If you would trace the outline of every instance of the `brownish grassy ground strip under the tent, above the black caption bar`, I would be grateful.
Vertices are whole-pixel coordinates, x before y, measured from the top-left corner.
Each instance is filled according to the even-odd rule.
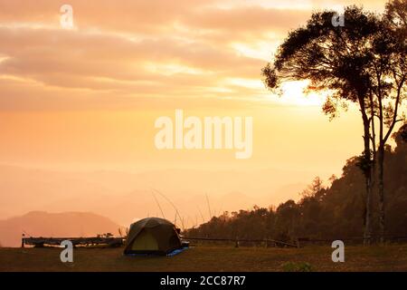
[[[407,271],[407,245],[345,247],[333,263],[330,247],[191,247],[177,256],[123,256],[121,248],[77,248],[62,264],[59,248],[0,248],[0,271]],[[308,264],[305,264],[308,263]],[[289,265],[289,266],[288,266]]]

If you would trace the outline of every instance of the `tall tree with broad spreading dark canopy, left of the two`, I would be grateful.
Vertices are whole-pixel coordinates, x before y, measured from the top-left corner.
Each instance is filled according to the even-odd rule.
[[[369,64],[380,19],[361,8],[348,6],[345,26],[334,27],[332,19],[336,15],[335,11],[312,14],[305,27],[289,33],[279,46],[273,65],[268,63],[262,73],[270,90],[279,88],[284,81],[308,80],[308,90],[330,92],[323,111],[331,118],[347,102],[358,104],[364,126],[364,152],[359,161],[365,179],[364,237],[369,242],[373,190]]]

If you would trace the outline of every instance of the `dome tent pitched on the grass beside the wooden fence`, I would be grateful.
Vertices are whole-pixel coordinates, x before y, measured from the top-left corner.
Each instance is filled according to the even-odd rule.
[[[124,254],[167,255],[181,247],[173,223],[164,218],[143,218],[130,226]]]

